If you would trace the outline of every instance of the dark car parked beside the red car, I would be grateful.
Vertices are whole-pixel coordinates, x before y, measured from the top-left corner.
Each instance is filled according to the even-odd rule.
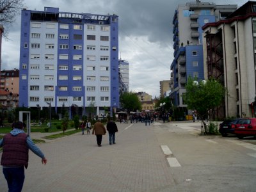
[[[227,120],[224,120],[219,125],[219,132],[220,134],[225,137],[228,134],[235,134],[235,127],[240,118],[230,118]]]

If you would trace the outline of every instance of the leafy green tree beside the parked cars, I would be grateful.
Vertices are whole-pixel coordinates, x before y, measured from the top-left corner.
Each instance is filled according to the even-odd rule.
[[[209,111],[214,111],[218,108],[225,97],[225,88],[218,83],[215,79],[203,80],[200,82],[195,81],[196,79],[188,78],[186,84],[186,104],[188,109],[196,110],[196,113],[204,124],[204,131],[201,130],[202,134],[207,134],[207,127],[204,122],[204,118],[209,115],[210,120],[212,118]]]

